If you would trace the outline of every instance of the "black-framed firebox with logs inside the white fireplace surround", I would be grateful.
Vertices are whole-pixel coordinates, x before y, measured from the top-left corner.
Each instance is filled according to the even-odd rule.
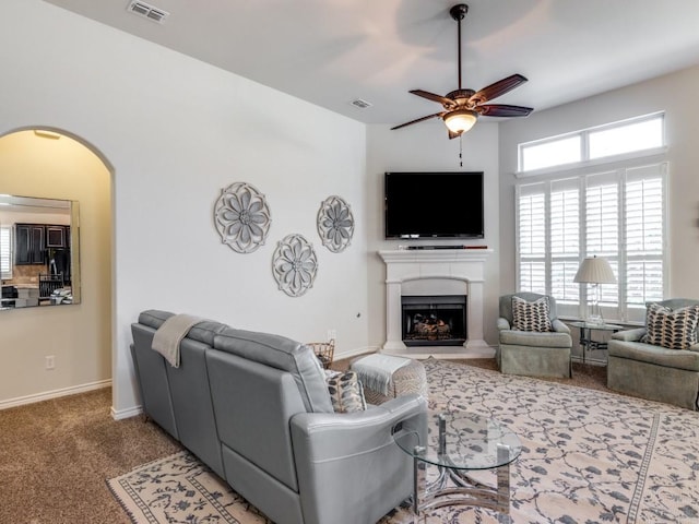
[[[466,342],[466,297],[402,296],[403,343],[406,346],[461,346]]]

